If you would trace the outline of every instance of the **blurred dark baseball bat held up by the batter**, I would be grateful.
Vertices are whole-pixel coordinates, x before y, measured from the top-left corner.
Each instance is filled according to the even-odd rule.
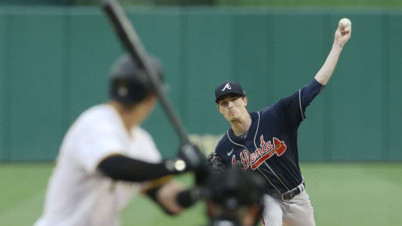
[[[127,49],[133,59],[137,61],[138,66],[149,76],[167,117],[175,131],[179,134],[181,144],[190,143],[182,121],[174,111],[172,104],[168,101],[166,96],[163,95],[161,80],[159,79],[156,69],[149,64],[145,48],[120,4],[116,0],[103,0],[102,7],[120,38],[121,44]]]

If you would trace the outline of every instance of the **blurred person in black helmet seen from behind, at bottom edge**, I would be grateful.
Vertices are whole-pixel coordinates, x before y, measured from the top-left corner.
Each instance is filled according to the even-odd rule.
[[[264,183],[253,172],[228,170],[213,175],[207,192],[210,225],[257,225],[263,210]]]

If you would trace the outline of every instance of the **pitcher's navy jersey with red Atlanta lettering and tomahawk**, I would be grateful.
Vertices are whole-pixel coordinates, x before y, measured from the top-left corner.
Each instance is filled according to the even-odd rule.
[[[292,96],[251,112],[246,137],[237,137],[230,128],[215,149],[223,164],[259,171],[269,182],[267,193],[283,193],[299,185],[303,178],[298,165],[297,129],[305,119],[306,107],[323,87],[313,79]]]

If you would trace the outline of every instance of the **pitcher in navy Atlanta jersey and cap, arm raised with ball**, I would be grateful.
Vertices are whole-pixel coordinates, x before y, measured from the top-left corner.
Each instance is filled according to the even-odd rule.
[[[298,163],[297,129],[306,118],[306,107],[330,79],[350,34],[350,21],[342,19],[328,58],[313,80],[260,111],[247,111],[247,96],[237,82],[223,82],[215,90],[217,108],[231,126],[209,160],[218,170],[235,167],[254,171],[266,179],[262,213],[266,226],[315,225]]]

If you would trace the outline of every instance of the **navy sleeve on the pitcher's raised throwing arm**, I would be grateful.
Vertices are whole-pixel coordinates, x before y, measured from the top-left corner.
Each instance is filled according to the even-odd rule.
[[[324,86],[315,78],[305,87],[296,91],[293,95],[285,97],[278,102],[278,107],[282,108],[284,121],[292,128],[297,128],[305,116],[307,106],[313,99],[321,93]]]

